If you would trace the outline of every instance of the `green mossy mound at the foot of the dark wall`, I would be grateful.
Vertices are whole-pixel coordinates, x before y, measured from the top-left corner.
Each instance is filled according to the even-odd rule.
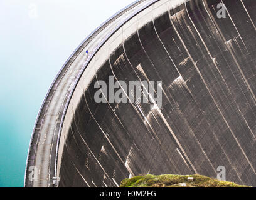
[[[188,177],[193,177],[194,180],[188,181]],[[135,176],[131,179],[124,179],[120,187],[183,187],[180,186],[181,183],[185,183],[185,187],[248,187],[240,186],[233,182],[218,181],[218,179],[198,174],[186,176],[173,174]]]

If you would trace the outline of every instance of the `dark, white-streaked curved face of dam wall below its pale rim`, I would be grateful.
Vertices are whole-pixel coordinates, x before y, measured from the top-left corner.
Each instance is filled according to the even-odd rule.
[[[256,186],[255,9],[255,0],[188,1],[115,48],[73,111],[60,187],[117,187],[147,173],[216,178],[219,166],[227,181]],[[96,103],[95,83],[109,86],[109,76],[162,81],[161,108]]]

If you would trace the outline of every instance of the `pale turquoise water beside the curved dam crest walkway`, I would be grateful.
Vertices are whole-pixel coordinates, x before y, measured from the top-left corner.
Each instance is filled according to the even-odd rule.
[[[131,2],[0,1],[0,187],[23,187],[35,119],[62,64],[90,32]]]

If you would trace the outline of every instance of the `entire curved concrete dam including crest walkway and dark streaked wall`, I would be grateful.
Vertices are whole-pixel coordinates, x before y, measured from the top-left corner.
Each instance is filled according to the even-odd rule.
[[[255,0],[142,0],[105,21],[46,94],[24,186],[117,187],[139,174],[220,169],[256,186],[255,10]],[[125,89],[131,81],[154,88],[151,101],[143,84],[139,95]]]

